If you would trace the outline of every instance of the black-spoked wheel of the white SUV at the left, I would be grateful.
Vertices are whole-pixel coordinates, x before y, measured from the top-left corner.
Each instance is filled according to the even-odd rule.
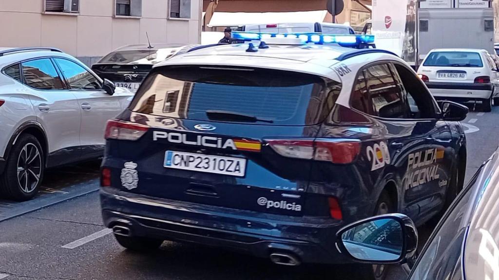
[[[45,156],[40,142],[30,134],[19,136],[0,177],[1,195],[16,201],[33,198],[38,193],[44,171]]]

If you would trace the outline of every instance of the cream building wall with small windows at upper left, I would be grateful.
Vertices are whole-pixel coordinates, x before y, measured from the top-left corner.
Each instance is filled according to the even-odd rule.
[[[0,0],[0,47],[56,47],[87,65],[128,44],[200,43],[202,0]]]

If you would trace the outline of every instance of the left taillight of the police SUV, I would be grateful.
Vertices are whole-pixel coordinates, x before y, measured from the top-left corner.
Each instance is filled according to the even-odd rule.
[[[138,140],[149,129],[148,126],[139,125],[120,120],[110,120],[107,122],[105,139]]]

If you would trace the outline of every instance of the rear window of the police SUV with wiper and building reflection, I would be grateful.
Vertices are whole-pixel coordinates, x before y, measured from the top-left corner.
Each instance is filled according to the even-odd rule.
[[[152,72],[130,110],[198,121],[311,125],[329,113],[339,91],[338,83],[309,74],[177,66]],[[220,112],[227,114],[214,114]]]

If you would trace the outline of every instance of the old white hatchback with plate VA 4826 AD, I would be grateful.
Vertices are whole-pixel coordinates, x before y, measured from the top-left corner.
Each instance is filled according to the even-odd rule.
[[[498,67],[483,49],[433,49],[418,69],[435,99],[479,101],[490,112],[499,105]]]

